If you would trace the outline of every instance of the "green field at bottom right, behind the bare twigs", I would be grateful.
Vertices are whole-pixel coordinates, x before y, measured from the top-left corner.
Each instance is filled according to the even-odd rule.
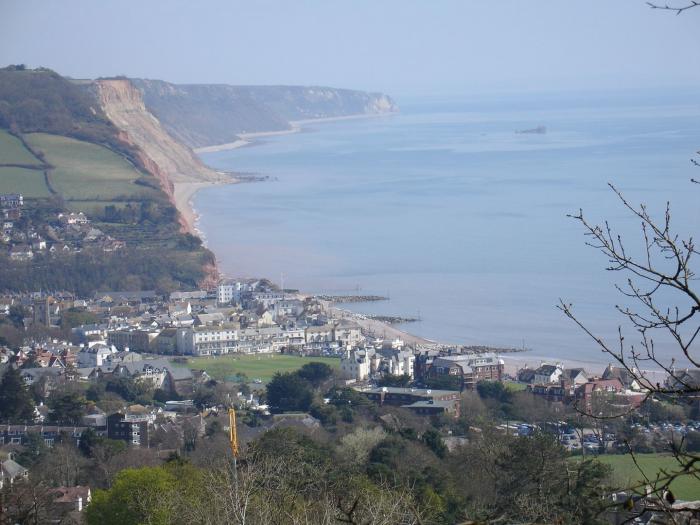
[[[668,454],[636,454],[637,461],[644,474],[651,480],[660,475],[661,470],[675,472],[679,470],[678,462]],[[601,463],[610,465],[614,470],[614,481],[621,488],[636,485],[644,481],[644,476],[632,461],[629,454],[601,455],[598,456]],[[671,485],[671,490],[678,499],[700,499],[700,481],[692,476],[681,476]]]

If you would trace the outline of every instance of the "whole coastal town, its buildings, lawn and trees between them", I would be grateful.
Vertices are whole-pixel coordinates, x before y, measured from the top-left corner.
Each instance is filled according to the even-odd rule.
[[[223,434],[226,421],[220,420],[228,407],[255,422],[239,430],[246,440],[280,425],[332,426],[336,416],[328,406],[348,396],[440,421],[441,440],[449,448],[480,431],[476,399],[477,413],[484,403],[499,407],[498,431],[551,432],[574,455],[625,452],[630,442],[640,451],[656,450],[674,436],[700,446],[697,402],[680,412],[678,407],[636,412],[647,392],[624,368],[609,365],[596,374],[552,362],[510,367],[509,373],[504,358],[489,349],[410,345],[369,333],[362,321],[334,303],[265,280],[225,280],[212,289],[168,295],[5,295],[0,396],[3,402],[21,399],[11,391],[16,375],[33,402],[31,410],[7,405],[0,410],[5,458],[0,484],[28,476],[32,465],[22,463],[31,461],[27,449],[62,444],[82,450],[86,440],[106,439],[164,458],[188,453],[217,431]],[[269,387],[282,375],[263,380],[237,370],[246,359],[274,369],[280,358],[292,360],[293,367],[298,360],[302,370],[314,364],[325,369],[326,407],[274,398]],[[217,374],[218,365],[231,368]],[[683,381],[698,385],[700,377],[689,371]],[[522,406],[504,413],[516,399]],[[341,407],[341,418],[351,417],[346,410]],[[631,415],[613,425],[586,417],[592,410]],[[55,491],[54,503],[66,512],[89,502],[88,487]]]

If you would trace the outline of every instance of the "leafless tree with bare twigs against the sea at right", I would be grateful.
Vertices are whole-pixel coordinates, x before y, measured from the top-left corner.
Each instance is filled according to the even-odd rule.
[[[682,237],[673,231],[669,203],[663,217],[657,219],[645,204],[633,206],[617,188],[610,187],[623,208],[641,225],[639,246],[631,247],[607,221],[589,222],[582,210],[573,218],[583,226],[590,239],[587,244],[607,258],[606,269],[626,277],[624,284],[616,285],[625,304],[615,305],[625,325],[618,327],[616,340],[605,340],[575,314],[571,304],[560,301],[559,308],[642,386],[646,391],[644,404],[661,399],[677,404],[696,403],[700,396],[700,359],[696,355],[700,294],[694,289],[694,256],[699,252],[692,235]],[[636,334],[636,340],[628,337],[630,331]],[[659,342],[665,351],[659,351]],[[650,367],[665,372],[666,381],[655,379]],[[603,419],[623,417],[630,410],[621,409]],[[597,412],[588,415],[599,418]],[[644,487],[632,487],[634,490],[641,493],[649,485],[654,496],[666,498],[674,479],[700,475],[700,454],[675,442],[670,447],[678,468],[661,471],[651,478],[645,475]],[[634,456],[632,446],[628,448]]]

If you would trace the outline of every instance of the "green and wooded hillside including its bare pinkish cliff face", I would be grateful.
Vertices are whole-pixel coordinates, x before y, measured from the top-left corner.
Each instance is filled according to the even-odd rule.
[[[128,81],[100,86],[44,68],[1,68],[0,193],[22,193],[24,206],[0,240],[0,290],[91,295],[216,280],[213,254],[185,233],[192,222],[173,206],[173,186],[222,177],[160,128]],[[64,231],[58,215],[78,210],[88,230]],[[46,245],[32,246],[29,261],[12,258],[30,234]],[[115,242],[96,242],[103,236]]]

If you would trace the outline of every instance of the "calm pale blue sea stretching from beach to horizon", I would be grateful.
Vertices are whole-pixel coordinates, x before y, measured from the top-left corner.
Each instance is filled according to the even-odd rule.
[[[697,230],[692,100],[399,101],[397,115],[310,125],[204,155],[214,167],[273,180],[201,191],[199,226],[231,277],[389,295],[352,308],[419,315],[405,328],[439,341],[607,361],[555,305],[574,303],[592,329],[613,336],[612,283],[622,276],[604,270],[566,215],[583,208],[636,243],[636,221],[612,182],[654,211],[670,200],[680,233]],[[538,125],[547,133],[514,133]]]

